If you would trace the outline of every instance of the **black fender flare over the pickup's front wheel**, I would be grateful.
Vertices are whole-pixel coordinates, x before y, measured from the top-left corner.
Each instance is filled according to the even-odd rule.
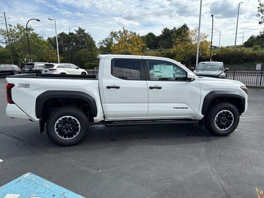
[[[211,91],[209,92],[203,99],[203,106],[202,106],[202,110],[201,113],[202,115],[205,115],[209,105],[211,103],[211,101],[215,98],[236,98],[242,101],[242,113],[245,111],[245,103],[246,103],[246,99],[245,97],[236,91],[221,91],[221,90],[215,90],[215,91]]]

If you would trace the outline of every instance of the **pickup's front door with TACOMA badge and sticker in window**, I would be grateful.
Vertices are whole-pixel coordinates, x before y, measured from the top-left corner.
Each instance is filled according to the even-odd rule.
[[[148,117],[177,118],[199,112],[201,90],[198,79],[187,81],[178,64],[162,59],[143,59],[148,86]]]

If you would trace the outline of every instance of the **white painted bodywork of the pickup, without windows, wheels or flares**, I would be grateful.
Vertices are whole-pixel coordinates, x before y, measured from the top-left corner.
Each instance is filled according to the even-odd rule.
[[[247,110],[247,94],[240,88],[245,86],[241,82],[219,78],[198,78],[195,75],[191,82],[123,80],[111,74],[112,58],[166,60],[177,64],[187,73],[191,71],[179,62],[168,58],[128,55],[99,55],[99,58],[98,80],[77,77],[75,79],[6,78],[8,83],[15,85],[12,88],[12,99],[15,104],[8,105],[7,116],[38,122],[35,109],[36,98],[50,90],[80,91],[92,96],[96,100],[97,108],[94,122],[173,118],[201,120],[203,100],[209,92],[215,90],[239,92],[246,101],[244,112]],[[19,83],[28,83],[30,86],[19,87]],[[120,86],[120,89],[106,88],[113,85]],[[150,86],[162,86],[162,89],[149,89]],[[175,109],[174,107],[186,108]]]

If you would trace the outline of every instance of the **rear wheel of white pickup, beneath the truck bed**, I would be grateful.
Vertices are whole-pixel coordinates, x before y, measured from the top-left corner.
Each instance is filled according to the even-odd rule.
[[[58,108],[50,114],[46,132],[56,144],[72,146],[80,143],[89,130],[88,116],[74,106]]]

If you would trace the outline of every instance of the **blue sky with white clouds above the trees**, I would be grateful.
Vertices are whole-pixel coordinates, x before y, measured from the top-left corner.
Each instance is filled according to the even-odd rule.
[[[220,46],[235,44],[238,4],[241,0],[202,0],[201,32],[211,40],[213,29],[221,31]],[[0,16],[5,11],[7,23],[26,25],[29,19],[34,32],[44,39],[57,33],[69,32],[69,27],[80,26],[90,33],[98,43],[110,31],[125,27],[130,31],[145,35],[153,32],[160,35],[164,27],[172,29],[186,23],[190,29],[198,27],[200,0],[1,0]],[[257,0],[244,0],[239,8],[237,45],[251,35],[263,31],[264,25],[258,24]],[[0,18],[0,28],[5,28]],[[73,27],[74,31],[78,27]],[[242,32],[242,33],[240,33]],[[213,31],[213,45],[219,45],[219,32]]]

